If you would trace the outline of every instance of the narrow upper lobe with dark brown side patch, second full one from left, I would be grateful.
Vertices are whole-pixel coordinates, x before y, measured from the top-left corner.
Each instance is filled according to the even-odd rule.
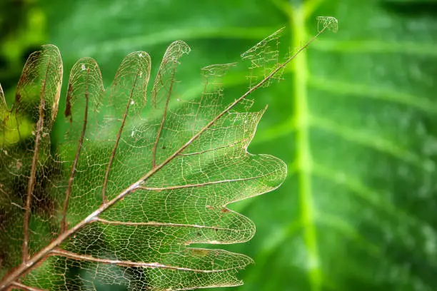
[[[64,197],[61,231],[68,228],[67,221],[72,220],[70,213],[74,214],[74,208],[78,207],[74,205],[74,200],[71,205],[71,193],[75,192],[76,195],[81,193],[80,185],[74,183],[77,173],[89,175],[86,179],[91,183],[94,183],[92,180],[94,175],[99,174],[99,171],[95,171],[96,168],[88,170],[88,165],[79,163],[79,158],[81,156],[92,158],[99,154],[99,151],[91,152],[93,148],[89,145],[93,140],[99,142],[99,134],[94,135],[94,133],[98,133],[99,129],[99,109],[102,107],[103,96],[104,86],[96,61],[92,58],[79,59],[71,68],[66,96],[65,116],[69,123],[69,131],[66,133],[62,155],[66,161],[63,168],[64,176],[69,178],[61,181],[58,187],[58,195]]]

